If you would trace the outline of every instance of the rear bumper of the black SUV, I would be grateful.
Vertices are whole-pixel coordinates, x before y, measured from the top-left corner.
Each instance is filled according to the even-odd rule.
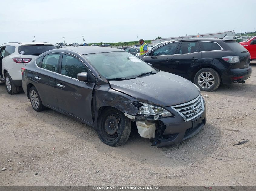
[[[230,70],[224,71],[221,75],[222,83],[230,84],[233,82],[239,83],[239,82],[245,81],[248,78],[250,78],[251,73],[252,73],[251,66],[249,66],[248,68],[242,68],[242,69],[236,68],[236,69],[230,69]],[[243,77],[240,79],[233,79],[240,76],[243,76]]]

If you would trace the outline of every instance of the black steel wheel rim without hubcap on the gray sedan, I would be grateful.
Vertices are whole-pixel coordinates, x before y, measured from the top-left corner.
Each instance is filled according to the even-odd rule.
[[[120,116],[116,112],[110,112],[106,115],[104,120],[104,135],[105,138],[113,141],[118,136],[118,125]]]

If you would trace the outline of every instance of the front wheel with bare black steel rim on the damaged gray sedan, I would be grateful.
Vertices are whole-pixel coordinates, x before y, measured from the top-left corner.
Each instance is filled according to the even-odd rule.
[[[102,142],[115,147],[124,145],[131,133],[131,120],[122,112],[107,108],[98,121],[98,135]]]

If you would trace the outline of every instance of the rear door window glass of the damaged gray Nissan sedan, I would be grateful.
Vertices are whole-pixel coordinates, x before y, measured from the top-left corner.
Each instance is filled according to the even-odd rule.
[[[52,72],[57,72],[58,62],[59,62],[60,54],[48,54],[45,55],[42,61],[42,67],[46,70],[50,70]]]

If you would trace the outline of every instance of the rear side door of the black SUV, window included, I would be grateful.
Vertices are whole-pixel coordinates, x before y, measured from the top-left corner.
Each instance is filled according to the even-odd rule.
[[[181,41],[171,62],[171,73],[191,80],[194,68],[200,65],[201,54],[198,41]]]

